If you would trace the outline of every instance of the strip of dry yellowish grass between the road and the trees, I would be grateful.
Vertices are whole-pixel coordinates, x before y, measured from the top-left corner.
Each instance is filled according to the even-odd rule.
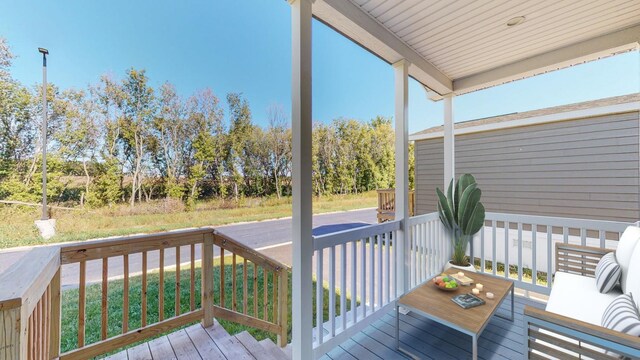
[[[313,212],[353,210],[374,207],[375,191],[357,195],[314,198]],[[217,226],[244,221],[291,216],[291,198],[242,199],[199,203],[193,211],[181,204],[156,201],[91,210],[54,210],[58,234],[49,241],[40,238],[34,220],[37,208],[0,205],[0,248],[101,238],[107,236],[157,232],[189,227]]]

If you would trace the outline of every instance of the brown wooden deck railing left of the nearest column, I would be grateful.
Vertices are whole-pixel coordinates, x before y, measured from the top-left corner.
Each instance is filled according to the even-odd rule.
[[[77,298],[61,297],[62,265],[77,269]],[[91,358],[189,323],[211,326],[214,317],[273,332],[284,346],[288,273],[212,228],[38,248],[0,278],[0,360]],[[77,313],[62,314],[76,301]],[[71,335],[61,333],[63,316],[77,319]],[[61,354],[62,335],[76,340]]]

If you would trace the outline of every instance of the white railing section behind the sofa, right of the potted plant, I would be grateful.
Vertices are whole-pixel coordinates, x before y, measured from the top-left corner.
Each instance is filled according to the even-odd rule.
[[[510,269],[515,286],[541,294],[551,292],[555,268],[555,243],[615,248],[622,232],[632,223],[550,216],[487,213],[484,230],[474,236],[469,255],[480,272],[503,276]],[[483,265],[484,266],[483,266]],[[539,281],[544,280],[544,281]]]

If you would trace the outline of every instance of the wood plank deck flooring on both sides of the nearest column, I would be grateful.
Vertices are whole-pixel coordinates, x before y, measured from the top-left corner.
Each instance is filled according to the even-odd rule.
[[[498,310],[508,314],[509,301]],[[522,313],[525,305],[544,305],[524,297],[515,298],[515,320],[494,316],[478,340],[480,359],[521,359],[523,354]],[[470,359],[471,338],[456,330],[409,313],[400,315],[401,346],[419,359]],[[325,356],[324,360],[405,359],[395,350],[395,312],[386,314]],[[229,335],[219,324],[210,328],[192,325],[109,359],[290,359],[290,348],[280,349],[270,340],[256,341],[247,332]]]

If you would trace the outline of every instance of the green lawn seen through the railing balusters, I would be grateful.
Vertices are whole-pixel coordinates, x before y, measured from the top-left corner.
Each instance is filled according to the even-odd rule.
[[[214,266],[214,303],[220,303],[220,262],[219,259],[215,260]],[[230,262],[226,261],[228,264]],[[243,291],[242,291],[242,262],[237,265],[236,272],[236,286],[237,286],[237,296],[238,304],[242,304],[243,299]],[[253,267],[251,265],[247,266],[248,270],[248,278],[251,279],[253,276]],[[196,296],[195,296],[195,304],[196,308],[200,307],[200,265],[197,264],[197,269],[195,272],[196,279]],[[165,270],[165,288],[164,288],[164,314],[165,319],[174,315],[175,311],[175,268],[167,267]],[[225,265],[225,304],[226,307],[231,307],[231,288],[232,288],[232,267],[231,265]],[[262,279],[262,271],[259,269],[258,278]],[[158,285],[159,285],[159,275],[157,271],[149,273],[147,277],[147,322],[154,323],[158,321],[159,311],[158,311]],[[189,311],[189,284],[190,284],[190,270],[181,269],[180,271],[180,307],[181,312]],[[122,333],[122,303],[123,303],[123,289],[124,289],[123,280],[112,280],[109,282],[108,286],[108,331],[107,334],[109,337],[115,336],[117,334]],[[267,287],[269,290],[269,294],[273,293],[271,281],[267,283]],[[253,282],[248,281],[248,303],[253,303]],[[315,302],[315,286],[314,282],[313,288],[313,297]],[[258,281],[258,294],[262,294],[264,289],[264,283],[262,281]],[[100,329],[101,329],[101,314],[102,314],[102,286],[101,284],[89,285],[86,288],[86,344],[91,344],[100,340]],[[142,278],[141,276],[132,276],[129,278],[129,330],[139,328],[141,325],[141,317],[142,317],[142,305],[141,305],[141,294],[142,294]],[[288,305],[289,305],[289,314],[291,314],[291,274],[289,274],[289,293],[288,293]],[[328,319],[328,303],[329,303],[329,292],[325,288],[324,291],[324,318]],[[339,304],[339,294],[336,295],[336,304]],[[351,307],[351,302],[347,302],[347,308]],[[336,309],[336,313],[339,313],[338,309]],[[253,314],[253,307],[249,306],[249,314]],[[263,297],[258,296],[258,316],[261,318],[263,314]],[[315,307],[314,307],[314,316],[313,321],[315,325]],[[254,328],[246,327],[243,325],[238,325],[236,323],[232,323],[225,320],[218,320],[220,324],[230,333],[237,334],[241,331],[248,331],[252,336],[254,336],[257,340],[262,340],[265,338],[270,338],[274,342],[276,340],[276,334],[268,333],[262,330],[257,330]],[[289,336],[288,341],[291,341],[291,318],[289,315]],[[173,330],[175,331],[175,329]],[[78,339],[78,289],[69,289],[63,292],[62,294],[62,339],[61,339],[61,349],[63,352],[73,350],[77,348],[77,339]],[[148,340],[147,340],[148,341]]]

